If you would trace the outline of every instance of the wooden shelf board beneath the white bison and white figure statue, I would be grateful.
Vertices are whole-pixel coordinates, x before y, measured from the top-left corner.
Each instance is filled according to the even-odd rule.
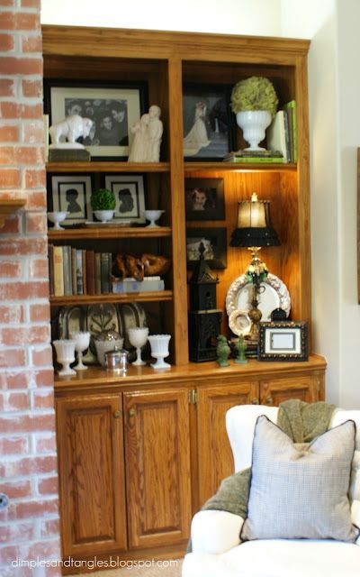
[[[48,162],[47,172],[169,172],[169,162]]]

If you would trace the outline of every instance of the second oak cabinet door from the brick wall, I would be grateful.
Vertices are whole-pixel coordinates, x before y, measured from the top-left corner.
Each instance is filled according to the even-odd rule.
[[[130,547],[189,535],[191,477],[187,389],[124,393]]]

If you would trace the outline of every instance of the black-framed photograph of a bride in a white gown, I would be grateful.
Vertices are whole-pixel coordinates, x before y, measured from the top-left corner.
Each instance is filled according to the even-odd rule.
[[[222,160],[233,150],[235,124],[230,87],[184,87],[184,157],[186,160]]]

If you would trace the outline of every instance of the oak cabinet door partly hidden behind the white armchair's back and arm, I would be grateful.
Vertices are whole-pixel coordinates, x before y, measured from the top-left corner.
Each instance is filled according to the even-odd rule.
[[[257,381],[197,389],[199,506],[214,494],[220,481],[234,472],[225,415],[235,405],[258,402]]]

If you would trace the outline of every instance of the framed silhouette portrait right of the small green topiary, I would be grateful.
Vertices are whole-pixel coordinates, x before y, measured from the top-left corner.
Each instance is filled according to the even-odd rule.
[[[133,174],[110,174],[104,177],[104,186],[115,195],[114,218],[131,223],[145,223],[144,177]]]

